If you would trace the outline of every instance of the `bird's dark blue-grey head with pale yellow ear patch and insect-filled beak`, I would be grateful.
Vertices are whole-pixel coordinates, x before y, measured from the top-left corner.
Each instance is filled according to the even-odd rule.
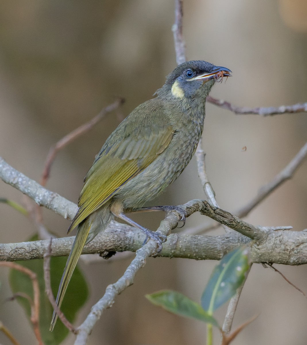
[[[217,79],[231,77],[229,72],[231,70],[226,67],[214,66],[206,61],[187,61],[166,77],[162,90],[178,99],[196,95],[206,97]]]

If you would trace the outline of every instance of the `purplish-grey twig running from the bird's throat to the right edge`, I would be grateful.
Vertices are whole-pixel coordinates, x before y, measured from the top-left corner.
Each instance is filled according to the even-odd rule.
[[[277,114],[285,113],[298,113],[298,112],[307,112],[307,102],[306,103],[297,103],[291,106],[280,106],[280,107],[258,107],[258,108],[248,108],[248,107],[237,107],[232,105],[230,102],[216,99],[211,96],[207,96],[206,99],[209,103],[212,103],[223,109],[230,110],[235,114],[247,115],[247,114],[256,114],[261,116],[272,116]]]

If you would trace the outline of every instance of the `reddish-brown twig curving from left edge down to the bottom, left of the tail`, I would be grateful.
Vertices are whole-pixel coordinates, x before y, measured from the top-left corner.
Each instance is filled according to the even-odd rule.
[[[39,329],[39,313],[40,313],[40,292],[39,292],[39,284],[37,280],[37,275],[32,272],[30,269],[27,267],[23,267],[19,264],[13,263],[13,262],[0,262],[0,266],[4,267],[9,267],[11,269],[16,269],[19,272],[22,272],[30,277],[32,280],[32,286],[33,286],[33,309],[31,307],[31,322],[33,324],[33,331],[35,334],[35,337],[38,341],[39,345],[42,345],[42,338],[40,334],[40,329]]]

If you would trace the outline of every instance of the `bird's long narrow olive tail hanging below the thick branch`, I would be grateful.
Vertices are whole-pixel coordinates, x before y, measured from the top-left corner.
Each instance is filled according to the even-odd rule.
[[[82,249],[85,243],[87,242],[86,240],[88,239],[90,228],[91,228],[91,224],[89,225],[87,221],[79,225],[78,232],[76,234],[74,243],[72,245],[72,248],[71,248],[71,251],[67,259],[66,266],[64,268],[64,272],[61,278],[58,295],[56,299],[58,307],[60,307],[62,304],[63,297],[65,295],[72,273],[76,267],[76,264],[81,255]],[[58,318],[58,315],[55,313],[55,311],[53,311],[50,331],[53,330],[54,325],[57,322],[57,318]]]

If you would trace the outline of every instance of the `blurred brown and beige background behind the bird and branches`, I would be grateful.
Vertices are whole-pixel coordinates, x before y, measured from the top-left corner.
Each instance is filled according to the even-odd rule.
[[[117,114],[107,115],[54,162],[47,188],[76,202],[83,177],[119,118],[150,99],[175,68],[173,22],[174,1],[2,1],[0,156],[38,181],[52,144],[117,96],[124,97],[126,102]],[[248,107],[307,101],[306,1],[190,0],[184,2],[183,24],[188,60],[202,59],[233,71],[232,78],[214,87],[213,97]],[[208,103],[203,144],[219,205],[229,211],[243,206],[294,157],[306,134],[306,113],[239,116]],[[306,176],[304,162],[294,178],[259,205],[247,221],[306,228]],[[19,191],[1,181],[0,197],[22,200]],[[204,193],[193,158],[152,205],[177,205],[194,198],[204,198]],[[68,220],[49,210],[43,214],[51,231],[66,234]],[[154,230],[162,218],[163,213],[149,213],[136,219]],[[2,243],[22,242],[36,231],[30,220],[7,205],[0,205],[0,219]],[[206,222],[195,214],[185,227]],[[80,265],[90,282],[91,296],[76,325],[131,259],[101,261]],[[204,344],[204,324],[168,314],[143,296],[168,288],[199,301],[215,265],[150,258],[134,285],[103,314],[89,344]],[[307,292],[306,266],[276,267]],[[11,296],[7,274],[7,269],[0,270],[0,320],[22,344],[34,344],[21,307],[17,302],[3,302]],[[225,311],[223,307],[216,313],[221,323]],[[234,344],[306,344],[306,299],[277,273],[253,265],[234,327],[258,313]],[[70,336],[64,344],[73,341]],[[2,334],[0,343],[8,344]]]

